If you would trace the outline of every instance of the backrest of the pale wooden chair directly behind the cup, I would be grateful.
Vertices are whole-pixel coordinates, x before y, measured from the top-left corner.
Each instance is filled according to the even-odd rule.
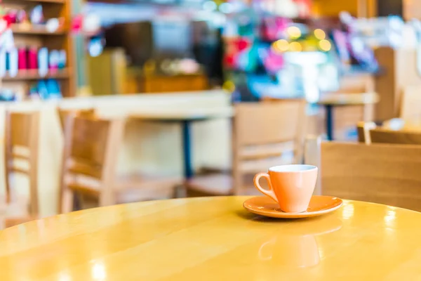
[[[302,161],[305,100],[239,103],[234,111],[234,194],[245,174]]]

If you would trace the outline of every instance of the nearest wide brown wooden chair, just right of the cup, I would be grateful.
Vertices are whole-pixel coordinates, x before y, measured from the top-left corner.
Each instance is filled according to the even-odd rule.
[[[319,164],[314,159],[319,157]],[[315,194],[421,211],[421,147],[321,143],[307,138],[305,159],[319,166]],[[310,159],[311,161],[307,161]]]

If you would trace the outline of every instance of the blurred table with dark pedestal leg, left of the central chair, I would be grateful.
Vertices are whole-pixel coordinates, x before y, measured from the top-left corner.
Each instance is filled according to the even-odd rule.
[[[185,178],[194,175],[192,167],[192,122],[209,119],[230,118],[234,115],[232,107],[196,108],[194,110],[151,110],[150,112],[130,115],[131,119],[142,121],[178,122],[182,124],[182,146]]]

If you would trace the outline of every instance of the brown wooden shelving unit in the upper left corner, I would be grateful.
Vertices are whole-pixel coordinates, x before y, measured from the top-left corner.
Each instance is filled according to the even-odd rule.
[[[72,37],[69,32],[70,6],[72,0],[2,0],[0,5],[6,8],[24,9],[29,13],[37,5],[43,7],[44,18],[64,18],[64,26],[55,32],[48,32],[43,25],[12,25],[11,30],[15,39],[15,46],[36,46],[47,47],[49,51],[64,49],[67,53],[67,66],[65,70],[57,70],[41,77],[37,70],[25,70],[18,72],[16,77],[7,76],[0,78],[1,86],[6,89],[13,89],[20,95],[29,93],[32,84],[41,79],[58,79],[62,95],[64,97],[74,96],[76,93],[76,81],[74,75],[74,55]]]

